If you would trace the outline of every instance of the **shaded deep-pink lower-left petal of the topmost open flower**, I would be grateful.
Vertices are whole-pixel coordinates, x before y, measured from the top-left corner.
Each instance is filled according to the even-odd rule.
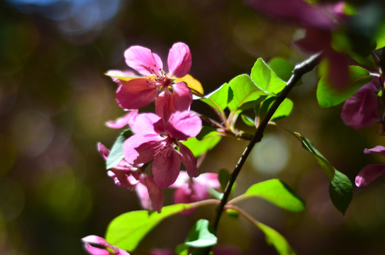
[[[149,87],[150,80],[145,78],[119,81],[121,86],[116,91],[116,101],[121,108],[139,109],[148,106],[157,98],[157,89]]]

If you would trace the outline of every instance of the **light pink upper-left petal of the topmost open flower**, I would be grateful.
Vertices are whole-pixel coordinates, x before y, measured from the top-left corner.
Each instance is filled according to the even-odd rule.
[[[156,53],[142,46],[131,46],[124,52],[125,63],[143,75],[160,77],[163,69],[162,60]]]

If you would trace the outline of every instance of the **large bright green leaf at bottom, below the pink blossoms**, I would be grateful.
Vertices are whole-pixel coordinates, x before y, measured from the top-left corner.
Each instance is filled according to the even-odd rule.
[[[147,210],[123,213],[108,225],[106,240],[121,249],[133,251],[143,237],[162,220],[189,208],[191,204],[177,204],[164,206],[160,213]]]

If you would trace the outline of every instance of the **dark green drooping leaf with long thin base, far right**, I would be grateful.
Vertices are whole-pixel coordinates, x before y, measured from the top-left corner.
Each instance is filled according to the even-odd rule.
[[[313,157],[316,159],[321,169],[323,169],[325,176],[330,182],[330,199],[332,200],[335,208],[342,212],[342,214],[345,214],[345,211],[347,210],[347,207],[349,206],[353,196],[352,183],[347,178],[347,176],[345,176],[345,174],[337,171],[337,169],[335,169],[334,166],[328,162],[328,159],[323,157],[323,155],[318,152],[310,140],[302,137],[298,133],[294,133],[294,135],[296,135],[296,137],[301,140],[303,148],[313,154]]]

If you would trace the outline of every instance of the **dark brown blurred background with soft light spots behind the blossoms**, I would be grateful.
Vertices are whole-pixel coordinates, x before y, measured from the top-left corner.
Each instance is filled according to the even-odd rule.
[[[104,236],[113,217],[140,209],[135,193],[106,176],[96,151],[96,142],[111,147],[119,133],[104,125],[123,115],[114,98],[116,84],[104,72],[128,69],[127,47],[143,45],[166,60],[174,42],[186,42],[191,74],[209,92],[250,73],[257,57],[283,57],[292,64],[305,59],[291,44],[297,34],[242,1],[1,1],[0,254],[85,254],[82,237]],[[316,72],[303,77],[303,85],[289,96],[294,111],[280,123],[312,140],[354,181],[366,164],[384,162],[362,153],[385,145],[384,137],[376,134],[378,126],[356,132],[343,125],[341,106],[319,108],[315,85]],[[208,111],[199,102],[193,108]],[[223,139],[201,171],[232,170],[246,145]],[[247,160],[235,195],[272,178],[288,183],[305,200],[306,211],[291,214],[257,199],[240,206],[284,234],[298,254],[384,253],[384,178],[355,188],[343,216],[330,202],[328,181],[311,154],[288,133],[269,127]],[[172,191],[164,192],[166,204],[172,203]],[[214,210],[208,206],[191,217],[165,220],[138,251],[173,249],[195,220],[212,220]],[[236,244],[243,254],[276,254],[241,218],[223,217],[219,242]]]

